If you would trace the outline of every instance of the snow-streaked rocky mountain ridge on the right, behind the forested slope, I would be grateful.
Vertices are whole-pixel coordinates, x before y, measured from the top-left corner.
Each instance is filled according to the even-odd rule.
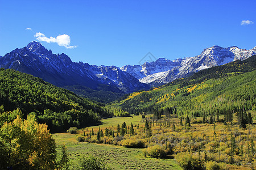
[[[225,63],[243,60],[256,54],[256,46],[251,50],[239,49],[236,46],[222,48],[212,46],[205,49],[199,56],[179,58],[174,61],[159,58],[154,62],[145,62],[143,65],[126,65],[121,70],[127,71],[140,82],[159,86],[172,82],[177,78],[184,78],[191,73]]]

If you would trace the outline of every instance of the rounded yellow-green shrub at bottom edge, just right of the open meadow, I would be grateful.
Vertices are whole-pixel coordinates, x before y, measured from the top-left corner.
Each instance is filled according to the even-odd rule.
[[[175,159],[183,169],[204,169],[204,162],[198,158],[193,158],[191,153],[179,153],[175,156]]]

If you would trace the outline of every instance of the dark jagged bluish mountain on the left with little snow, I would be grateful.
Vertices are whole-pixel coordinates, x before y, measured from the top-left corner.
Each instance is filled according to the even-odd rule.
[[[62,54],[52,54],[39,42],[30,42],[22,49],[15,49],[0,58],[0,66],[38,76],[58,87],[72,86],[115,92],[116,96],[137,90],[148,89],[134,76],[115,66],[91,66],[76,63]],[[106,86],[106,87],[105,87]],[[82,95],[86,96],[86,92]],[[109,93],[109,92],[108,92]],[[116,98],[115,98],[116,99]]]

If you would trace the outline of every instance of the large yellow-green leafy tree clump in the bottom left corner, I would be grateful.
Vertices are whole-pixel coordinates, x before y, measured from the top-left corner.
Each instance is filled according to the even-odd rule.
[[[46,124],[38,124],[34,115],[5,122],[0,129],[1,158],[14,169],[54,169],[56,146]],[[2,165],[2,164],[1,164]],[[6,168],[4,167],[4,169]],[[3,168],[3,167],[2,167]]]

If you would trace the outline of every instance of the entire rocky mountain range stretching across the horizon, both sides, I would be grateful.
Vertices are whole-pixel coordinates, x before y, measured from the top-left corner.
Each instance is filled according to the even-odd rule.
[[[32,41],[26,47],[17,48],[0,57],[0,67],[38,76],[80,96],[91,99],[97,96],[100,101],[109,102],[124,94],[148,90],[197,71],[238,59],[243,60],[255,54],[256,46],[251,50],[236,46],[212,46],[195,57],[179,58],[174,61],[159,58],[143,65],[126,65],[119,68],[72,62],[66,54],[53,54],[39,42]],[[108,97],[105,98],[112,99],[105,100],[103,96],[106,94]]]

